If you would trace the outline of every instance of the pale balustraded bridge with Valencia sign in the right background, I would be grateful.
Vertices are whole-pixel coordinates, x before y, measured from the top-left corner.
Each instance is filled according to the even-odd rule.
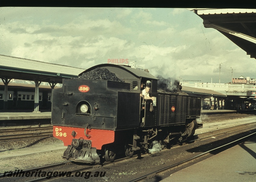
[[[203,97],[203,109],[255,109],[256,108],[256,86],[255,80],[250,77],[240,76],[232,78],[230,83],[202,83],[188,81],[182,82],[182,86],[205,89],[226,95],[226,98]]]

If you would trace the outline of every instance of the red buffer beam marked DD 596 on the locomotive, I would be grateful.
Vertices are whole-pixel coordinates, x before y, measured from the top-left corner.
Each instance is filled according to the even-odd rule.
[[[71,135],[72,131],[76,132],[75,137]],[[92,147],[100,150],[102,145],[113,143],[115,140],[115,131],[112,130],[86,129],[86,134],[89,136],[84,135],[84,128],[53,126],[53,137],[62,140],[64,146],[71,145],[73,138],[84,138],[85,140],[91,140]]]

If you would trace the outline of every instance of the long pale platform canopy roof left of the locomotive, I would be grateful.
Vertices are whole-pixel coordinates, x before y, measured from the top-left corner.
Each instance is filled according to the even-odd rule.
[[[0,78],[62,83],[85,69],[0,55]]]

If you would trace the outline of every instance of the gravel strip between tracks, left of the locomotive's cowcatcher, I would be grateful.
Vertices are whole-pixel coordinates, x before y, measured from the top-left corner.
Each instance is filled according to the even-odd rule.
[[[55,150],[57,146],[63,149]],[[0,174],[4,171],[24,170],[66,161],[61,157],[66,147],[54,137],[5,142],[1,147]],[[12,149],[4,149],[10,147]],[[46,151],[39,153],[40,150]]]

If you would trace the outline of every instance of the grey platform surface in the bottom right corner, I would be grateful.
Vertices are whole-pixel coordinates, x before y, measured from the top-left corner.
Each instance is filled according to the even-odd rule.
[[[161,182],[255,182],[256,137],[177,171]]]

